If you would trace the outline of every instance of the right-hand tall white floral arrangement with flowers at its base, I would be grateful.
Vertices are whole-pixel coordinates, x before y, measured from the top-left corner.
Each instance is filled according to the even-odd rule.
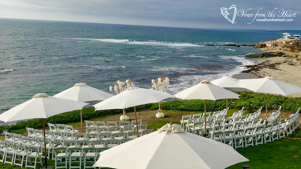
[[[168,76],[163,76],[159,77],[157,80],[152,79],[152,88],[153,90],[158,90],[158,91],[163,91],[166,92],[166,89],[169,88],[169,77]],[[161,101],[159,102],[159,109],[158,112],[156,113],[157,118],[163,118],[165,117],[165,114],[162,112],[161,109]]]

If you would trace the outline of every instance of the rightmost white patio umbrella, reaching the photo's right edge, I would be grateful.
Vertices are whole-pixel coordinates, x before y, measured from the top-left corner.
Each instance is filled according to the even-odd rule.
[[[266,117],[267,117],[267,107],[268,107],[268,95],[269,94],[293,94],[301,92],[301,87],[293,85],[287,82],[276,80],[273,77],[267,76],[264,78],[253,78],[253,79],[239,79],[239,86],[249,89],[254,92],[267,93],[266,97]]]

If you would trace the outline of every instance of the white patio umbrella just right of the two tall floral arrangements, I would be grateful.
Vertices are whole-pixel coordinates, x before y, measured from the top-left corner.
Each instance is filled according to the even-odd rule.
[[[205,100],[204,113],[206,114],[206,100],[218,100],[225,98],[239,98],[239,94],[229,91],[225,88],[212,84],[208,80],[203,80],[199,84],[189,87],[183,91],[175,94],[181,99],[203,99]],[[205,134],[206,134],[206,120],[205,120]]]

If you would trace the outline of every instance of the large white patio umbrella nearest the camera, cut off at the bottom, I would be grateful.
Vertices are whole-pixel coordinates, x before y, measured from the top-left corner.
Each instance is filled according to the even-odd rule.
[[[243,161],[248,159],[230,145],[185,132],[179,124],[166,124],[158,131],[100,152],[93,166],[219,169]]]

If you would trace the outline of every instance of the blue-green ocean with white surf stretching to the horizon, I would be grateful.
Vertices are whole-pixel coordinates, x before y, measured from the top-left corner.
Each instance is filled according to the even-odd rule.
[[[130,78],[147,88],[168,75],[168,92],[175,94],[204,79],[237,74],[254,64],[246,54],[262,52],[205,44],[255,44],[285,32],[6,18],[0,31],[0,113],[36,93],[54,95],[78,82],[110,92],[117,80]]]

